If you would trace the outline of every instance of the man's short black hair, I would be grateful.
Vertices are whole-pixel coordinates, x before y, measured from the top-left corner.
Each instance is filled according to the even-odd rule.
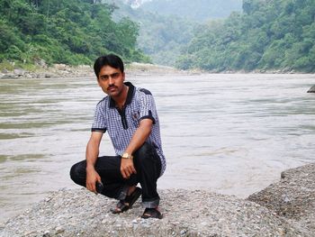
[[[112,68],[120,69],[123,72],[123,62],[120,57],[115,54],[107,54],[99,57],[94,62],[94,73],[98,78],[103,66],[110,66]]]

